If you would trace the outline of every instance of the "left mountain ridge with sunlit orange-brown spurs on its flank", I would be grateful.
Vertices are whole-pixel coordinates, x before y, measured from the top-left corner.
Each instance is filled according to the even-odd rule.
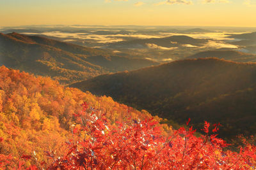
[[[86,48],[16,32],[0,33],[0,44],[0,66],[51,76],[61,83],[159,64],[147,59],[121,57],[109,50]]]

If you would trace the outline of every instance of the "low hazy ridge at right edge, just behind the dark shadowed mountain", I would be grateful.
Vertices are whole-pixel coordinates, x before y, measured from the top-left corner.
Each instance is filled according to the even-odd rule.
[[[218,59],[232,60],[236,62],[256,62],[256,55],[252,53],[243,53],[234,50],[212,50],[199,52],[187,57],[187,59],[198,59],[216,57]]]

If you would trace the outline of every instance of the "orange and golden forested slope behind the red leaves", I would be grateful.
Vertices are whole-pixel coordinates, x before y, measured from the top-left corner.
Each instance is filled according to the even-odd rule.
[[[84,102],[104,115],[109,124],[151,118],[147,111],[134,110],[111,97],[96,97],[63,87],[51,78],[0,67],[0,155],[20,158],[35,151],[40,161],[47,160],[45,151],[56,151],[56,157],[63,155],[67,149],[64,143],[72,137],[70,128],[77,122],[74,113],[80,113]],[[166,125],[162,128],[172,132]]]

